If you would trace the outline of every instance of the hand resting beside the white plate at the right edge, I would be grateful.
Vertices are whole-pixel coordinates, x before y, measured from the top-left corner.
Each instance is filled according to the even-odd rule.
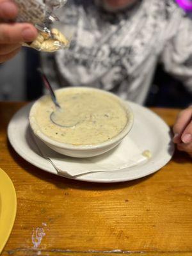
[[[173,142],[177,144],[177,148],[192,157],[192,106],[179,113],[173,132]]]

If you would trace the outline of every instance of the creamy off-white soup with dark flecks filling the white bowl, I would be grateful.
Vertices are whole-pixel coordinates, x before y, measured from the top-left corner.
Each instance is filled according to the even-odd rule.
[[[35,109],[35,120],[49,138],[72,145],[95,145],[118,135],[127,124],[127,113],[120,101],[102,92],[69,90],[56,92],[62,113],[58,122],[76,124],[60,127],[50,115],[56,111],[51,97],[43,97]]]

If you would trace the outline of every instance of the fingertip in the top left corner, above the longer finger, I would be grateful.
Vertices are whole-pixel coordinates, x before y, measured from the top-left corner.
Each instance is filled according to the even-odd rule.
[[[13,1],[0,0],[0,20],[14,19],[17,16],[18,8]]]

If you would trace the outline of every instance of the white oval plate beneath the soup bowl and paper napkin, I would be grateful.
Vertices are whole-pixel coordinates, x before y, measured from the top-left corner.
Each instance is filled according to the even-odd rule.
[[[146,163],[124,168],[118,171],[88,173],[71,179],[88,182],[124,182],[139,179],[150,175],[162,168],[173,156],[174,145],[172,143],[170,127],[164,123],[155,113],[129,102],[134,112],[134,126],[129,136],[140,146],[141,152],[150,150],[152,158]],[[52,164],[41,156],[31,137],[29,129],[29,111],[31,104],[20,109],[8,125],[8,138],[15,151],[26,161],[36,167],[58,175]],[[77,159],[74,161],[77,161]],[[65,175],[63,175],[65,176]],[[68,176],[65,176],[68,178]]]

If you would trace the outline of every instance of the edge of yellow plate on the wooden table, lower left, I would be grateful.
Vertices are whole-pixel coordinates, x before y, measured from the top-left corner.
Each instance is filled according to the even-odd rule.
[[[0,168],[0,254],[11,234],[17,210],[12,180]]]

